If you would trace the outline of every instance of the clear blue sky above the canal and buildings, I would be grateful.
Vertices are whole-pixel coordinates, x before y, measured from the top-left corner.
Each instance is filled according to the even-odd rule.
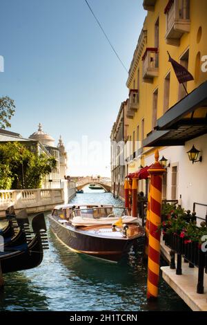
[[[88,0],[127,68],[146,12],[142,0]],[[28,137],[37,124],[68,149],[109,140],[126,100],[127,73],[112,52],[84,0],[1,0],[0,96],[14,99],[11,131]],[[68,174],[105,174],[110,147],[97,166],[77,164]],[[90,154],[89,154],[90,156]],[[99,166],[98,166],[99,165]]]

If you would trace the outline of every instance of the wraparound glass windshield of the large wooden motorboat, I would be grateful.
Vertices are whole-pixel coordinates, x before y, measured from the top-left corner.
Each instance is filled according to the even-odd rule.
[[[129,216],[129,211],[125,207],[90,207],[86,209],[73,210],[70,219],[77,216],[89,219],[101,218],[119,218],[121,216]]]

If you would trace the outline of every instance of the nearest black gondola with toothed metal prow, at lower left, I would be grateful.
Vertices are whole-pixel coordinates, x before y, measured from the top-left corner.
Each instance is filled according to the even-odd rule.
[[[32,219],[34,238],[29,243],[23,243],[18,250],[6,248],[0,252],[1,271],[3,274],[28,270],[39,266],[43,259],[43,249],[48,248],[46,222],[43,213]]]

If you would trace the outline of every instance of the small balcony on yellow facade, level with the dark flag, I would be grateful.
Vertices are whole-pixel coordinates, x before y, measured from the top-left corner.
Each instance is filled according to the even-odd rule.
[[[142,77],[144,82],[152,82],[159,73],[159,53],[158,48],[146,48],[142,57]]]

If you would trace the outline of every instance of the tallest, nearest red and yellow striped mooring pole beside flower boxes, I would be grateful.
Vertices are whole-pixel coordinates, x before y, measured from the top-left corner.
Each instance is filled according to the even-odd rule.
[[[155,151],[155,164],[148,173],[150,174],[150,222],[148,246],[148,299],[157,299],[159,285],[160,263],[160,231],[157,226],[161,223],[161,189],[162,176],[166,169],[159,163],[159,151]]]

